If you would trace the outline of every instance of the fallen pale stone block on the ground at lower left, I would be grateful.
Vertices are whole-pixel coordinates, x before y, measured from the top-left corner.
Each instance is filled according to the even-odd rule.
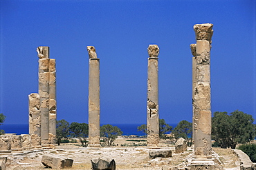
[[[71,168],[73,165],[73,160],[70,158],[64,158],[62,156],[46,154],[42,156],[42,164],[44,164],[44,166],[47,168],[64,169]]]

